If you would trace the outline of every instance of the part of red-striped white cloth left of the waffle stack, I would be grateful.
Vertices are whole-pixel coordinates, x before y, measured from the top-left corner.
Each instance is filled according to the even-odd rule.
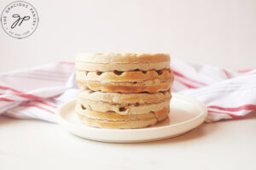
[[[56,122],[59,105],[75,99],[73,63],[59,62],[0,74],[0,114]]]

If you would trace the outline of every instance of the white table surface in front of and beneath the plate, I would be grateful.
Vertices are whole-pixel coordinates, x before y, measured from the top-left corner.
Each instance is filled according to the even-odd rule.
[[[0,169],[256,169],[256,115],[141,144],[81,139],[49,122],[0,116]]]

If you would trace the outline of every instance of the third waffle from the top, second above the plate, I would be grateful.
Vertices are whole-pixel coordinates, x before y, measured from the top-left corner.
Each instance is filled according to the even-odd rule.
[[[119,103],[114,103],[111,102],[113,101],[112,98],[115,100],[120,99],[117,93],[108,93],[111,94],[108,96],[109,100],[102,101],[102,96],[106,96],[105,93],[102,92],[97,92],[97,97],[92,99],[90,97],[90,94],[88,94],[88,90],[86,91],[87,93],[81,92],[79,94],[79,97],[77,99],[77,105],[81,105],[82,108],[88,108],[93,111],[101,111],[101,112],[108,112],[108,111],[113,111],[115,113],[118,113],[120,115],[139,115],[143,113],[147,113],[150,111],[160,111],[163,108],[168,108],[170,105],[170,99],[171,95],[168,93],[162,94],[159,93],[158,95],[154,94],[155,97],[151,97],[151,94],[127,94],[128,96],[126,97],[125,94],[119,95],[123,96],[123,101],[126,99],[129,99],[129,97],[134,98],[134,99],[141,99],[141,101],[137,100],[136,103],[125,103],[125,102],[119,102]],[[93,95],[94,93],[92,93]],[[107,95],[108,95],[107,94]],[[114,94],[117,94],[115,96]],[[161,95],[162,94],[162,95]],[[157,99],[157,97],[163,96],[162,99]],[[149,99],[147,99],[149,98]],[[150,101],[150,98],[153,99],[155,98],[154,101]],[[147,101],[147,102],[144,102]]]

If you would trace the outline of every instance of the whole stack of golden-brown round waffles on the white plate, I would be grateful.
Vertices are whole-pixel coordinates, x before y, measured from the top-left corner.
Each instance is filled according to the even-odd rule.
[[[170,112],[169,54],[78,54],[75,111],[90,127],[141,128]]]

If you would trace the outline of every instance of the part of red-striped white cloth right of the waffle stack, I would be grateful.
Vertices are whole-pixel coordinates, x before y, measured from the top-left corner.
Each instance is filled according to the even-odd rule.
[[[172,91],[207,105],[206,122],[241,118],[256,110],[256,69],[227,70],[177,59],[171,67],[175,76]]]

